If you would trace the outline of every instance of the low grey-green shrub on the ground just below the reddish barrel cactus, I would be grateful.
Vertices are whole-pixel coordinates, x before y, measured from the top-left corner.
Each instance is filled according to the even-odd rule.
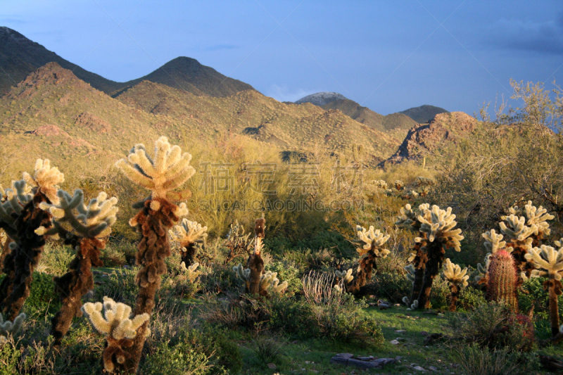
[[[483,303],[465,314],[452,314],[449,322],[456,338],[482,348],[523,352],[531,350],[534,342],[530,319],[494,302]]]

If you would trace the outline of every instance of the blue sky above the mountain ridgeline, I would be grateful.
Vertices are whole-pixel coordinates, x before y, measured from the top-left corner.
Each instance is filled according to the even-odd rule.
[[[510,101],[511,79],[563,82],[559,0],[0,4],[0,26],[118,82],[188,56],[279,101],[335,91],[383,115],[423,104],[472,115]]]

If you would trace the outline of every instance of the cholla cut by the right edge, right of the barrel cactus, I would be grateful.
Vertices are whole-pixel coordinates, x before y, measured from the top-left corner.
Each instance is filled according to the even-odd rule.
[[[551,332],[555,336],[559,333],[559,310],[557,307],[557,296],[562,294],[563,284],[563,239],[555,241],[555,250],[551,246],[542,245],[540,248],[532,248],[526,254],[526,260],[532,263],[533,271],[531,277],[546,277],[543,288],[549,291]]]

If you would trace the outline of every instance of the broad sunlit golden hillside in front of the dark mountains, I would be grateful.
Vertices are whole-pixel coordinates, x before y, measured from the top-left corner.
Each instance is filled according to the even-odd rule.
[[[315,148],[349,154],[357,143],[372,163],[398,144],[340,111],[286,105],[254,90],[217,98],[143,81],[113,98],[47,63],[0,98],[0,178],[8,182],[37,158],[49,158],[61,170],[77,171],[80,184],[100,176],[113,184],[115,160],[161,135],[186,149],[228,138],[279,154]]]

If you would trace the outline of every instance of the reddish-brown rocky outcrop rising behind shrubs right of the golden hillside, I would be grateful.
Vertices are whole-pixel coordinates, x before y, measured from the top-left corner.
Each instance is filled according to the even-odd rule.
[[[409,130],[403,144],[385,163],[417,160],[436,151],[447,142],[456,142],[471,134],[477,120],[463,112],[441,113],[428,124],[419,124]]]

